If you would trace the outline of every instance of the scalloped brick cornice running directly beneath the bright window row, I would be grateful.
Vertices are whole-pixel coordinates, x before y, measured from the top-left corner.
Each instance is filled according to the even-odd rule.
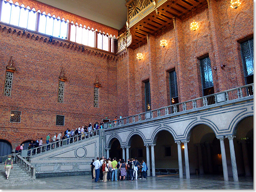
[[[3,22],[0,22],[0,32],[3,32],[3,33],[6,32],[6,33],[9,33],[10,35],[20,36],[21,38],[29,38],[37,42],[43,42],[43,43],[53,45],[55,47],[63,47],[66,49],[73,50],[75,52],[80,52],[81,54],[98,56],[100,58],[106,58],[112,61],[117,60],[116,54],[111,53],[109,51],[104,51],[102,49],[89,47],[86,45],[78,44],[76,42],[63,40],[61,38],[56,38],[56,37],[53,37],[52,40],[50,40],[50,36],[48,35],[39,33],[37,31],[25,30],[24,28],[5,24]]]

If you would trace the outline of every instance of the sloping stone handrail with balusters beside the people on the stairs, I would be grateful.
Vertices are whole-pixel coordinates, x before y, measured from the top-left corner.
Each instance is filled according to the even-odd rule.
[[[51,142],[51,143],[48,143],[48,144],[46,143],[46,144],[41,145],[39,147],[34,147],[34,148],[30,149],[30,150],[27,149],[25,151],[28,151],[28,155],[30,155],[30,157],[31,157],[31,156],[36,155],[38,153],[52,150],[51,147],[53,145],[54,145],[54,149],[55,149],[57,147],[57,145],[60,146],[61,143],[62,143],[62,146],[63,146],[63,142],[66,142],[65,145],[69,145],[70,141],[72,141],[72,143],[73,142],[77,142],[78,141],[78,137],[81,138],[79,140],[79,141],[81,141],[82,140],[82,136],[84,136],[84,137],[89,136],[89,135],[90,135],[90,137],[96,136],[98,134],[98,130],[99,129],[95,129],[95,130],[93,130],[91,132],[84,132],[83,134],[75,135],[75,136],[72,136],[72,137],[69,137],[69,138],[65,138],[65,139],[62,139],[60,141],[54,141],[54,142]],[[86,138],[84,138],[84,139],[86,139]],[[46,150],[45,148],[48,148],[49,150]],[[42,151],[42,149],[44,149],[44,151]],[[34,151],[34,153],[33,153],[33,151]]]

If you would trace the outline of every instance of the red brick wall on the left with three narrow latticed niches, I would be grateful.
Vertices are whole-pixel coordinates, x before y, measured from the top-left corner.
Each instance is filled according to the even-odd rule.
[[[114,54],[86,46],[82,52],[79,45],[69,45],[69,41],[50,43],[47,36],[37,37],[38,33],[28,32],[22,35],[23,30],[18,35],[18,27],[11,27],[9,33],[5,26],[0,27],[0,139],[7,139],[15,147],[27,139],[45,140],[48,132],[64,132],[67,128],[116,116]],[[11,96],[3,96],[6,66],[11,56],[16,67],[12,92]],[[68,80],[64,85],[64,102],[58,103],[62,67]],[[93,107],[96,74],[101,83],[99,107]],[[20,123],[9,122],[11,110],[21,111]],[[57,114],[65,115],[65,126],[55,125]]]

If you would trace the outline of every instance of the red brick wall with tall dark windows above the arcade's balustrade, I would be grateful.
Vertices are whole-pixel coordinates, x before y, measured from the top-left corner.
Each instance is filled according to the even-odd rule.
[[[150,36],[149,44],[140,46],[143,60],[136,60],[139,49],[134,50],[131,57],[135,58],[136,97],[135,101],[128,99],[128,103],[136,105],[129,115],[145,112],[142,82],[148,78],[152,109],[170,105],[167,73],[170,69],[175,68],[177,72],[179,102],[202,96],[199,58],[205,55],[211,59],[215,93],[245,85],[239,42],[253,36],[253,1],[243,1],[238,9],[231,9],[230,1],[210,2],[210,9],[206,7],[194,14],[199,24],[197,31],[190,30],[192,17],[182,21],[176,18],[175,29],[163,34],[167,47],[160,47],[161,35]],[[117,65],[131,65],[126,62],[119,60]],[[226,67],[222,68],[221,64]]]

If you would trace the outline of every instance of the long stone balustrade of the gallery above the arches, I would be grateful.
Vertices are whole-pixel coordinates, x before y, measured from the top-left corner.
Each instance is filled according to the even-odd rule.
[[[215,105],[217,103],[222,103],[229,100],[234,100],[243,97],[252,96],[254,92],[254,84],[244,85],[241,87],[229,89],[224,92],[219,92],[185,102],[177,103],[167,107],[161,107],[159,109],[154,109],[149,112],[144,112],[136,114],[133,116],[128,116],[125,118],[120,118],[117,120],[109,121],[104,123],[104,128],[111,128],[120,125],[126,125],[129,123],[135,123],[138,121],[143,121],[146,119],[156,118],[160,116],[165,116],[169,114],[181,113],[188,110],[200,109],[201,107],[206,107],[208,105]],[[253,98],[253,96],[251,97]]]

